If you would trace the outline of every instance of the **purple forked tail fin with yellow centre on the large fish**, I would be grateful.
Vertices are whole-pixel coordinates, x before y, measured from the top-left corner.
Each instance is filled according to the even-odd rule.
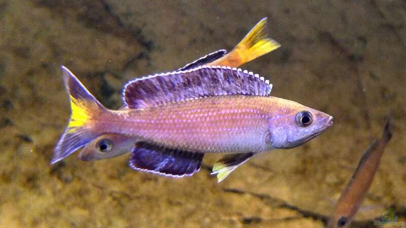
[[[65,132],[56,145],[51,164],[66,158],[96,138],[97,132],[92,131],[94,126],[92,120],[100,110],[106,109],[69,69],[61,66],[61,70],[66,90],[70,95],[72,114]]]

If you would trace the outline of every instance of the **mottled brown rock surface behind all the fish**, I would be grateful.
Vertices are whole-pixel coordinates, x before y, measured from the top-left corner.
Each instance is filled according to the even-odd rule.
[[[273,96],[329,113],[309,143],[258,156],[221,183],[218,156],[190,178],[134,172],[128,156],[51,166],[69,103],[59,66],[106,106],[122,85],[230,50],[262,17],[282,44],[243,68]],[[0,226],[323,227],[392,111],[394,136],[353,227],[406,216],[406,3],[0,0]]]

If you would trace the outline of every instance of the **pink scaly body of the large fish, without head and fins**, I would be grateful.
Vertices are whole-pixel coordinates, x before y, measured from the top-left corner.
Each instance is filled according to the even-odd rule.
[[[187,100],[143,110],[127,110],[119,123],[103,128],[126,132],[157,144],[202,153],[261,151],[269,118],[262,97],[218,96]],[[128,132],[127,129],[132,129]]]

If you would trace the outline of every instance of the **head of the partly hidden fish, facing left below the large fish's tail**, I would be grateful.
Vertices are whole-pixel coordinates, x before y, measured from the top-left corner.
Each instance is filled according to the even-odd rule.
[[[100,135],[85,145],[78,158],[82,161],[108,159],[128,153],[138,140],[120,134]]]

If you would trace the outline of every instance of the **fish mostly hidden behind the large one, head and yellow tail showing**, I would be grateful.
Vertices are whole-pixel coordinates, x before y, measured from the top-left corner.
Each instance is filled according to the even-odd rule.
[[[221,49],[198,58],[178,70],[188,70],[200,65],[239,67],[278,49],[281,45],[266,35],[266,21],[266,17],[260,20],[230,53]],[[78,159],[92,161],[117,157],[129,153],[136,142],[136,138],[127,136],[118,136],[116,134],[101,135],[84,146],[78,155]]]

